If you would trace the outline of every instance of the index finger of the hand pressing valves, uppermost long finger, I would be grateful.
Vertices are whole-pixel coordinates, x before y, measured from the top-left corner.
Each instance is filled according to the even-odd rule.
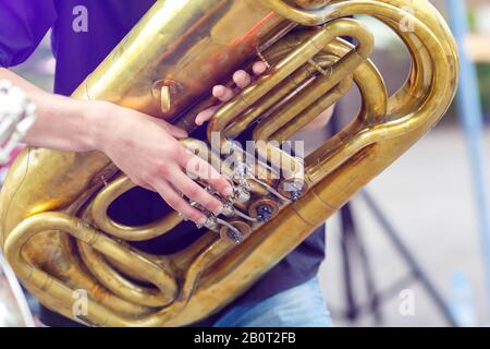
[[[185,169],[187,176],[204,180],[221,195],[225,197],[233,195],[233,188],[230,182],[200,157],[187,152],[187,155],[182,159],[181,166]]]

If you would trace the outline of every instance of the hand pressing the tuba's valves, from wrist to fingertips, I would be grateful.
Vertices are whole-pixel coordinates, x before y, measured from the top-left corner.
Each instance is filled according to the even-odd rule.
[[[232,186],[211,165],[179,143],[177,139],[187,137],[185,131],[112,104],[101,103],[97,109],[103,113],[98,118],[103,124],[98,128],[110,130],[100,135],[100,149],[136,185],[158,192],[173,209],[196,224],[206,222],[207,217],[180,193],[216,215],[221,214],[222,203],[192,180],[184,169],[195,170],[196,173],[189,174],[199,177],[224,196],[232,195]],[[187,167],[189,161],[193,166]],[[203,173],[208,176],[203,177]]]

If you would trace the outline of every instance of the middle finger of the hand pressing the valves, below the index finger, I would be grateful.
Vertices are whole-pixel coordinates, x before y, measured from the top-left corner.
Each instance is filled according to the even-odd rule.
[[[215,215],[221,215],[223,212],[223,204],[213,195],[208,193],[199,184],[188,178],[184,172],[176,173],[176,177],[171,179],[173,185],[180,190],[189,200],[195,201],[203,207],[212,212]]]

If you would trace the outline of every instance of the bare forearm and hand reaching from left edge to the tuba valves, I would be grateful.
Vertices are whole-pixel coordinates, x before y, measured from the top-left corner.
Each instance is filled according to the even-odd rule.
[[[170,123],[105,101],[84,101],[52,95],[14,73],[0,69],[0,79],[24,88],[37,107],[37,119],[24,142],[60,151],[106,153],[134,183],[158,192],[175,210],[195,222],[206,217],[180,193],[219,214],[220,201],[186,173],[187,164],[211,173],[205,180],[225,196],[230,183],[209,164],[187,152],[176,139],[186,136]]]

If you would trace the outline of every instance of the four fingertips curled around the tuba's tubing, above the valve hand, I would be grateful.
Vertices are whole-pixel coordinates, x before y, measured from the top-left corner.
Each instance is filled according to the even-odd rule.
[[[254,77],[257,77],[267,71],[267,64],[261,61],[255,62],[252,70],[254,71]],[[196,117],[196,124],[203,125],[206,121],[209,121],[223,103],[229,101],[237,93],[240,93],[241,89],[247,87],[254,77],[246,71],[238,70],[233,74],[233,82],[235,83],[236,88],[232,89],[223,85],[215,86],[215,88],[212,88],[212,95],[220,101],[220,104],[199,112]]]

